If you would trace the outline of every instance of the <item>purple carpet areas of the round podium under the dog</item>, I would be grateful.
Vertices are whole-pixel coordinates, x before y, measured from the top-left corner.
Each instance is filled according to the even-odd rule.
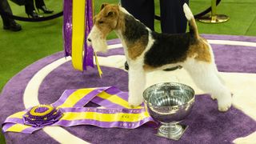
[[[207,39],[238,40],[256,42],[254,37],[203,35]],[[111,41],[115,43],[117,41]],[[256,47],[212,45],[218,70],[225,72],[256,73]],[[123,54],[122,49],[110,50],[108,54]],[[42,58],[26,67],[6,84],[0,96],[0,122],[18,111],[24,110],[23,92],[34,74],[50,62],[63,57],[63,52]],[[83,74],[72,68],[71,62],[52,71],[39,89],[39,102],[50,104],[58,100],[66,89],[85,87],[116,86],[127,91],[128,74],[123,70],[102,66],[103,77],[98,78],[98,72],[90,69]],[[134,130],[103,129],[96,126],[64,127],[71,134],[92,143],[232,143],[235,138],[244,137],[256,130],[256,122],[232,107],[226,113],[217,110],[217,103],[209,96],[196,97],[194,109],[189,117],[182,122],[189,126],[182,138],[177,141],[155,136],[156,129],[141,126]],[[7,143],[58,143],[42,130],[34,134],[6,133]]]

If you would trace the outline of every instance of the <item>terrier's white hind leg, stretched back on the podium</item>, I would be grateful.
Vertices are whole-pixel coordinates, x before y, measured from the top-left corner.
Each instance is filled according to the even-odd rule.
[[[190,58],[183,66],[195,84],[206,93],[217,98],[218,110],[226,111],[232,104],[230,90],[226,88],[218,78],[216,66],[210,62],[200,62],[194,58]]]

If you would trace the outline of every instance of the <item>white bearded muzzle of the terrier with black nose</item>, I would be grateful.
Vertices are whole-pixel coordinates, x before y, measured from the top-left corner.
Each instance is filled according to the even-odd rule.
[[[102,38],[102,32],[98,30],[97,26],[94,26],[88,35],[87,44],[93,47],[95,52],[106,52],[107,51],[107,44],[106,38]]]

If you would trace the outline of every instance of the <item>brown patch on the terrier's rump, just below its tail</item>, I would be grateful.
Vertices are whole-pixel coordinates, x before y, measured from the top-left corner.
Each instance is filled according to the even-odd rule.
[[[187,52],[189,58],[195,58],[199,61],[211,62],[210,47],[206,44],[206,39],[198,38],[198,41],[190,45]]]

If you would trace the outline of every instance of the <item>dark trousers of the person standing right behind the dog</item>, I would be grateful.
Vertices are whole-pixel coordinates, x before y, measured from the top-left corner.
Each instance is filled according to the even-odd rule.
[[[184,2],[189,0],[160,0],[162,33],[178,34],[186,32]],[[154,0],[121,0],[121,4],[135,18],[154,30]]]

